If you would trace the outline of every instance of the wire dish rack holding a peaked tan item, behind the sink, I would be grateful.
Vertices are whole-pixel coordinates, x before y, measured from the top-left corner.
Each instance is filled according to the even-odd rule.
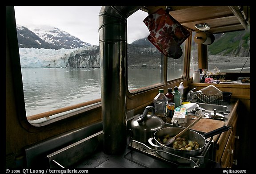
[[[230,102],[232,93],[222,92],[217,89],[214,85],[201,89],[202,93],[196,93],[196,102],[216,104],[216,105],[227,105]]]

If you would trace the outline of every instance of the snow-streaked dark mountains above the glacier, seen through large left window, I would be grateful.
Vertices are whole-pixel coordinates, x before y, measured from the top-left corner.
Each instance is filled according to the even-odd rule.
[[[45,48],[60,50],[91,46],[75,36],[52,26],[33,26],[29,29],[16,25],[20,48]]]

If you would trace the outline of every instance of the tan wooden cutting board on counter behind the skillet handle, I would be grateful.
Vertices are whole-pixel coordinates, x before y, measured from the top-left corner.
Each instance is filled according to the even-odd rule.
[[[196,120],[191,119],[193,117],[196,117],[196,116],[188,115],[187,124],[184,127],[187,127],[188,125],[190,125],[194,121],[196,121]],[[217,128],[221,128],[224,125],[225,125],[225,122],[221,121],[221,120],[202,118],[195,125],[193,125],[190,129],[207,133],[207,132],[213,131]],[[212,140],[215,141],[219,137],[219,135],[220,134],[215,135]],[[208,138],[208,139],[210,139],[210,138]]]

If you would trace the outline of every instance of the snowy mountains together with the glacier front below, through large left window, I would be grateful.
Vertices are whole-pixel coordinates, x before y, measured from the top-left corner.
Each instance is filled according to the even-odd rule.
[[[16,27],[22,68],[100,67],[99,46],[56,27]]]

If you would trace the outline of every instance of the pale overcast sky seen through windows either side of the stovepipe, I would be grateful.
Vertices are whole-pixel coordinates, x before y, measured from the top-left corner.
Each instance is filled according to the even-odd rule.
[[[50,25],[92,45],[99,45],[99,12],[101,6],[15,6],[16,24]],[[128,43],[149,35],[141,10],[128,17]]]

